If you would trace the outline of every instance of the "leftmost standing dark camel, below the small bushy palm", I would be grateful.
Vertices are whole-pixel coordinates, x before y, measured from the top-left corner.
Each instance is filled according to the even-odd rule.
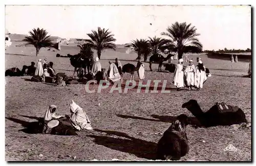
[[[84,69],[84,74],[86,74],[86,68],[88,70],[88,73],[90,73],[90,69],[92,68],[92,65],[93,65],[93,61],[90,60],[90,58],[83,58],[82,57],[82,54],[76,54],[76,55],[73,55],[70,57],[70,63],[72,66],[75,67],[74,69],[74,74],[73,74],[73,78],[74,78],[74,75],[75,75],[75,72],[77,72],[77,76],[79,78],[82,77],[82,69]],[[79,73],[78,73],[78,69],[80,70]]]

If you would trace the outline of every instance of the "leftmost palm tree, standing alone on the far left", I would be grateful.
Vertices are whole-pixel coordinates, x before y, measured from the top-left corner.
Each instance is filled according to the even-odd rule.
[[[53,45],[52,40],[47,36],[48,32],[44,29],[33,29],[29,31],[31,36],[26,36],[23,41],[26,41],[27,44],[35,46],[36,56],[38,55],[41,48],[51,47]]]

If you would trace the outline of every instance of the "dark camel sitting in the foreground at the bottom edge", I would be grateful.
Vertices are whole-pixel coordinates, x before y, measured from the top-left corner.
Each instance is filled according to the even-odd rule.
[[[164,132],[157,144],[157,160],[179,160],[188,153],[189,146],[185,131],[187,125],[187,116],[181,114]]]

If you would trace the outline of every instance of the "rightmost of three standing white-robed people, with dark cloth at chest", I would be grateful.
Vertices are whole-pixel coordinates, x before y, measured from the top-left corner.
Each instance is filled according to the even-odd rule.
[[[207,76],[205,73],[205,66],[203,65],[203,62],[199,60],[199,63],[196,66],[196,73],[195,73],[195,86],[197,87],[197,90],[200,90],[200,88],[203,88],[203,83],[206,80],[207,80]]]

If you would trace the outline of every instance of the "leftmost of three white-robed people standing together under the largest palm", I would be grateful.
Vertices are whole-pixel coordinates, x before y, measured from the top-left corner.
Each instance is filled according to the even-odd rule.
[[[178,91],[180,91],[181,87],[184,87],[183,59],[179,59],[179,62],[176,65],[173,82]]]

